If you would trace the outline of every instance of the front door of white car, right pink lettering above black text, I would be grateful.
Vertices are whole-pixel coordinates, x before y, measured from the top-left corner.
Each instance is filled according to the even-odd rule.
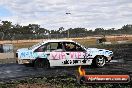
[[[66,60],[64,65],[87,65],[87,59],[85,58],[86,50],[75,42],[63,42],[65,49]]]

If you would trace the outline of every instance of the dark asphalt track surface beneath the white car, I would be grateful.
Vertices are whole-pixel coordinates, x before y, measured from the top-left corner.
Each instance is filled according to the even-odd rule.
[[[132,74],[132,61],[111,62],[103,68],[83,67],[86,74]],[[18,64],[0,65],[0,81],[10,81],[34,76],[57,76],[62,74],[75,75],[78,67],[55,67],[51,69],[34,68]]]

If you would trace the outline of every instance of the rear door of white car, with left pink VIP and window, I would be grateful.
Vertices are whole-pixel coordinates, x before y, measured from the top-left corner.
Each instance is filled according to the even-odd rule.
[[[50,66],[63,66],[63,62],[66,59],[66,53],[62,42],[50,42],[47,45],[47,50],[50,52],[48,56]]]

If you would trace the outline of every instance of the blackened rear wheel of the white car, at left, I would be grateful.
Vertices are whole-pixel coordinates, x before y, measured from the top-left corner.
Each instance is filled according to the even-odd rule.
[[[49,61],[47,59],[36,59],[34,61],[34,67],[36,68],[50,68]]]

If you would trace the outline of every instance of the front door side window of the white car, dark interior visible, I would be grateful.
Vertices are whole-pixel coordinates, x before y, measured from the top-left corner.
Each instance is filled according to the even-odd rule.
[[[66,51],[70,51],[70,52],[83,52],[83,51],[85,51],[85,49],[83,49],[81,46],[79,46],[73,42],[64,42],[63,45],[64,45],[64,48]]]

